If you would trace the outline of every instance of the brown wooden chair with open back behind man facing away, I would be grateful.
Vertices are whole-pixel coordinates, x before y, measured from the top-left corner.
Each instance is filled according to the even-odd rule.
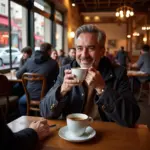
[[[40,99],[37,100],[32,100],[30,98],[29,92],[27,90],[27,82],[31,82],[31,81],[41,81],[42,82],[42,90],[41,90],[41,96]],[[30,114],[30,111],[35,111],[35,112],[39,112],[39,104],[41,99],[44,97],[45,95],[45,89],[46,89],[46,79],[43,75],[41,74],[37,74],[37,73],[24,73],[22,76],[22,82],[23,82],[23,87],[25,90],[25,94],[26,94],[26,98],[27,98],[27,115]]]

